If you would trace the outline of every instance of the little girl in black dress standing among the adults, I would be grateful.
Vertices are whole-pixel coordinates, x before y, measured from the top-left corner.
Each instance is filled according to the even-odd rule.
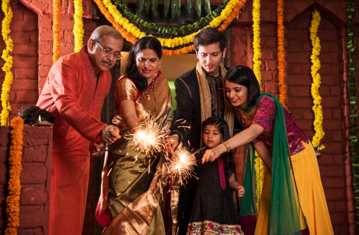
[[[207,148],[229,139],[227,123],[222,118],[208,118],[202,124],[202,139]],[[196,159],[202,159],[205,151],[201,149]],[[213,162],[198,162],[197,176],[199,183],[187,234],[243,235],[231,189],[236,191],[238,197],[242,197],[244,187],[235,181],[232,154],[222,154]]]

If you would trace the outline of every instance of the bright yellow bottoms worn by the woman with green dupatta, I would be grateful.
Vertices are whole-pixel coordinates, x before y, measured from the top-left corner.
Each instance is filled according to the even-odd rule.
[[[334,232],[315,151],[311,143],[302,143],[305,149],[291,156],[291,161],[303,214],[306,218],[310,235],[331,235]],[[258,220],[254,232],[256,235],[268,234],[270,190],[271,175],[267,172],[263,183]],[[304,228],[305,223],[301,221],[301,229]]]

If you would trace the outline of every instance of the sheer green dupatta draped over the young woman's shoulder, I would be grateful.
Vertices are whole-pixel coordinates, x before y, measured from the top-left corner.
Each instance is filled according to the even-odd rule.
[[[274,121],[268,234],[300,235],[302,234],[300,218],[304,216],[298,200],[298,192],[290,160],[284,108],[276,97],[268,93],[262,93],[258,97],[256,104],[265,95],[271,97],[277,106]],[[253,183],[253,177],[255,176],[253,159],[254,149],[248,151],[245,162],[244,187],[246,194],[241,202],[241,216],[253,215],[253,212],[256,211],[254,203],[255,193],[253,193],[253,185],[255,185],[255,180]]]

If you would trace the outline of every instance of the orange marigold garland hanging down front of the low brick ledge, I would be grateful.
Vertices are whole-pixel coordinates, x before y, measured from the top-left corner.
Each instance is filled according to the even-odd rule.
[[[20,194],[21,194],[21,164],[23,154],[23,129],[24,120],[22,118],[14,118],[10,123],[11,143],[9,147],[9,181],[8,191],[9,195],[6,197],[6,216],[7,228],[5,235],[17,234],[17,228],[20,225],[19,211],[20,211]]]

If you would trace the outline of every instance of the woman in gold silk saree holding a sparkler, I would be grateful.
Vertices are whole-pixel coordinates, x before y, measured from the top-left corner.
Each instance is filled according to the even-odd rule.
[[[110,212],[104,234],[165,234],[160,185],[163,152],[136,151],[131,140],[124,138],[148,120],[164,130],[169,126],[172,98],[168,81],[159,71],[161,56],[161,43],[155,37],[138,39],[130,50],[125,75],[116,82],[112,124],[123,138],[111,144],[103,170],[97,209],[101,214],[107,206]]]

